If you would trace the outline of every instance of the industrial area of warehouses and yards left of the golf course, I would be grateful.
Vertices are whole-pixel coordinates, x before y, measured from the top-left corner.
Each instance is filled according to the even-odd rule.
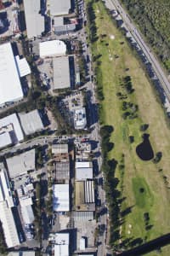
[[[0,255],[92,256],[105,242],[85,23],[83,1],[0,1]]]

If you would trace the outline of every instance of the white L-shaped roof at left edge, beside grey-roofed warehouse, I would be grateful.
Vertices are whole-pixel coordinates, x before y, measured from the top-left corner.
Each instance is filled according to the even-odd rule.
[[[12,113],[8,115],[7,117],[0,119],[0,130],[8,125],[13,126],[13,133],[10,131],[11,137],[12,137],[12,142],[13,143],[18,143],[24,139],[23,132],[20,127],[20,122],[19,119],[17,118],[16,113]]]

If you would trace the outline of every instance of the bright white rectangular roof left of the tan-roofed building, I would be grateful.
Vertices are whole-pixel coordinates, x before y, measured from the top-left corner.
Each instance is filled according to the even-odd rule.
[[[70,195],[69,184],[54,185],[54,212],[69,212],[70,211]]]

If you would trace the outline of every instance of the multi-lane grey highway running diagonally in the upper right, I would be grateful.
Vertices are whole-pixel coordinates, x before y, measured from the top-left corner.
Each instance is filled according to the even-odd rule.
[[[151,63],[152,68],[156,73],[156,77],[160,80],[161,86],[165,91],[168,101],[170,102],[170,83],[167,79],[167,75],[162,69],[159,61],[157,61],[155,55],[151,52],[150,47],[144,42],[144,39],[142,38],[139,30],[134,25],[129,15],[127,15],[126,11],[122,8],[122,5],[118,0],[105,0],[105,4],[111,10],[116,9],[121,15],[124,25],[126,26],[128,31],[131,32],[132,37],[137,42],[137,44],[139,44],[140,49],[143,50],[144,55]]]

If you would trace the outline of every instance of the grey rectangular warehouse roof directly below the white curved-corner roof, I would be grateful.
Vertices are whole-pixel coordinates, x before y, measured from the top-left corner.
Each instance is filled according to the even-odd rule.
[[[70,67],[68,56],[53,59],[54,90],[71,87]]]

